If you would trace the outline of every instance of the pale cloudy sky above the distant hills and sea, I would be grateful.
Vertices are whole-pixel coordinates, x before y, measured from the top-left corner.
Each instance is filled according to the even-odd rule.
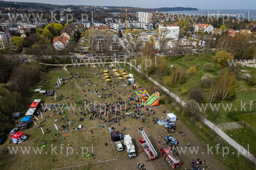
[[[94,0],[94,1],[84,1],[84,0],[12,0],[15,2],[33,2],[33,3],[50,3],[50,4],[75,4],[75,5],[95,5],[95,6],[132,6],[140,8],[160,8],[160,7],[191,7],[198,8],[200,10],[228,10],[228,9],[243,9],[243,10],[253,10],[256,6],[255,0]],[[0,4],[1,6],[1,4]]]

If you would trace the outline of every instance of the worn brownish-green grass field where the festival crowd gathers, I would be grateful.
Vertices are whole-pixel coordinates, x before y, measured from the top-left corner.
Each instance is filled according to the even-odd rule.
[[[106,69],[106,68],[104,68]],[[42,85],[42,90],[51,90],[52,88],[56,90],[57,99],[54,101],[54,103],[72,103],[74,104],[75,101],[77,101],[76,110],[74,111],[75,114],[72,114],[71,111],[67,111],[64,109],[63,115],[67,117],[67,122],[54,122],[54,119],[60,119],[63,115],[58,115],[54,113],[53,117],[50,117],[51,111],[43,112],[44,119],[42,120],[41,117],[38,119],[40,120],[41,124],[40,127],[44,129],[44,132],[46,133],[46,129],[50,130],[50,134],[42,134],[41,129],[37,128],[35,124],[29,125],[29,129],[21,130],[21,132],[24,132],[26,136],[29,137],[29,140],[24,141],[20,143],[19,145],[10,144],[8,141],[12,140],[10,136],[8,136],[8,139],[4,145],[0,146],[0,150],[3,148],[6,149],[7,146],[42,146],[43,141],[47,140],[47,145],[42,150],[41,155],[34,155],[31,151],[28,155],[22,155],[18,151],[17,155],[8,155],[7,153],[0,153],[1,160],[0,160],[0,166],[3,169],[58,169],[60,167],[67,167],[65,169],[138,169],[138,166],[136,166],[137,162],[143,163],[145,162],[145,168],[146,169],[170,169],[170,166],[168,164],[163,164],[164,159],[160,157],[159,150],[161,147],[163,147],[163,138],[161,139],[161,143],[159,143],[159,136],[162,137],[166,136],[165,129],[163,125],[153,124],[152,117],[166,117],[166,113],[163,113],[163,110],[166,110],[167,113],[175,113],[176,115],[179,115],[175,108],[167,107],[166,104],[161,104],[160,106],[157,106],[155,108],[152,108],[152,110],[156,111],[156,115],[150,115],[150,117],[146,117],[145,123],[142,124],[140,121],[140,118],[131,118],[126,117],[125,122],[122,118],[120,120],[120,125],[114,124],[112,125],[115,127],[115,131],[120,131],[122,135],[130,134],[132,137],[132,142],[134,143],[136,147],[136,154],[137,157],[135,159],[129,159],[127,156],[127,152],[124,150],[123,152],[118,152],[115,146],[115,143],[111,142],[110,134],[108,131],[108,127],[106,127],[106,124],[102,123],[102,120],[95,119],[95,120],[89,120],[88,115],[84,117],[84,120],[82,122],[79,122],[79,117],[81,115],[79,114],[79,104],[78,101],[83,101],[84,94],[83,91],[79,91],[79,89],[85,90],[85,93],[90,99],[90,101],[97,101],[97,103],[102,103],[102,98],[96,96],[93,91],[95,89],[99,90],[99,94],[108,92],[109,94],[113,93],[110,89],[102,91],[102,87],[106,86],[106,82],[102,82],[100,85],[100,81],[103,80],[103,75],[95,76],[95,73],[99,73],[100,71],[97,70],[97,68],[74,68],[71,69],[70,72],[75,76],[76,73],[81,72],[81,76],[88,76],[88,78],[75,78],[76,83],[72,83],[71,80],[67,80],[68,83],[65,85],[61,85],[58,89],[54,88],[55,82],[57,78],[60,77],[68,77],[70,76],[65,69],[54,69],[52,71],[49,71],[49,73],[43,75],[42,81],[40,82],[40,85]],[[84,73],[86,72],[86,73]],[[109,71],[109,73],[114,73],[114,71]],[[127,72],[128,73],[128,72]],[[149,92],[149,94],[152,94],[150,90],[150,83],[148,81],[140,81],[140,77],[135,74],[135,78],[138,77],[138,83],[140,83],[141,87]],[[49,81],[49,83],[45,83],[45,81]],[[111,83],[114,81],[117,81],[116,78],[111,78]],[[92,81],[92,86],[88,87],[88,83]],[[81,83],[81,85],[79,85]],[[82,84],[84,86],[82,86]],[[121,90],[123,93],[113,93],[116,94],[116,96],[122,97],[122,100],[127,100],[128,97],[130,97],[131,87],[127,87],[124,89],[124,87],[120,87],[119,85],[123,85],[125,82],[118,83],[117,86],[115,86],[115,90]],[[113,85],[115,85],[113,83]],[[86,87],[87,86],[87,87]],[[33,92],[34,89],[38,88],[38,85],[33,87],[31,89],[31,96],[29,97],[29,101],[32,101],[34,99],[42,99],[42,103],[52,103],[51,96],[39,96],[37,93]],[[87,91],[87,89],[90,89],[90,91]],[[124,94],[125,92],[125,94]],[[124,94],[124,96],[123,96]],[[61,97],[63,95],[63,97]],[[162,95],[162,94],[161,94]],[[67,96],[67,99],[66,99]],[[163,94],[164,96],[164,94]],[[70,101],[70,98],[73,98],[72,101]],[[111,97],[107,97],[106,99],[103,99],[103,103],[111,103],[115,102],[115,99]],[[29,108],[29,106],[28,106]],[[142,109],[145,112],[145,108]],[[132,111],[132,110],[129,110]],[[22,114],[24,115],[26,113],[26,110],[22,111]],[[84,113],[84,111],[83,111]],[[83,116],[82,116],[83,117]],[[35,118],[33,118],[35,120]],[[63,129],[61,128],[61,124],[67,124],[68,120],[72,119],[74,121],[74,124],[68,129],[70,131],[63,132]],[[20,119],[19,119],[20,120]],[[36,120],[35,120],[36,122]],[[36,122],[37,125],[38,122]],[[56,124],[59,128],[59,131],[56,131],[54,128],[54,125]],[[74,127],[78,127],[78,125],[83,125],[82,130],[73,131],[72,129]],[[191,166],[191,160],[192,159],[198,159],[200,158],[206,160],[206,164],[208,167],[211,167],[211,169],[232,169],[234,165],[228,165],[224,166],[223,163],[216,158],[216,155],[208,155],[207,149],[206,149],[206,143],[202,141],[200,136],[196,134],[194,131],[191,130],[191,127],[188,127],[187,124],[184,124],[184,122],[179,119],[177,122],[175,122],[177,125],[176,132],[172,134],[174,138],[177,138],[179,140],[178,146],[187,146],[188,143],[190,143],[191,146],[198,146],[199,151],[198,155],[191,155],[190,153],[186,153],[185,155],[181,154],[179,155],[180,159],[182,160],[182,169],[189,168]],[[99,127],[99,125],[104,125],[104,127]],[[147,161],[147,156],[145,153],[142,152],[142,149],[139,145],[139,140],[142,138],[141,134],[138,132],[138,127],[143,126],[144,131],[146,132],[148,138],[150,139],[152,145],[157,150],[157,153],[159,155],[159,158],[157,160],[153,161]],[[129,130],[124,131],[124,127],[128,127]],[[87,128],[86,130],[84,128]],[[93,134],[91,134],[91,130],[93,131]],[[185,136],[181,136],[179,131],[185,132]],[[54,134],[60,134],[60,137],[55,137]],[[65,138],[62,140],[61,138]],[[55,139],[55,143],[51,141],[51,139]],[[71,143],[72,141],[72,143]],[[105,146],[104,143],[109,143],[108,146]],[[122,141],[123,143],[123,141]],[[54,153],[51,154],[51,144],[53,146],[57,146],[56,152],[58,153],[55,155]],[[63,153],[60,154],[60,144],[63,144],[64,149]],[[68,155],[66,157],[66,146],[72,146],[74,153],[72,155]],[[93,154],[95,156],[95,159],[92,159],[92,157],[89,157],[88,159],[81,157],[81,146],[88,147],[88,154],[92,153],[92,145],[93,145]],[[77,152],[77,154],[76,154]],[[200,153],[200,154],[199,154]],[[205,154],[202,154],[205,153]],[[54,159],[54,162],[52,162],[52,159]],[[243,159],[243,157],[241,158]],[[103,162],[105,161],[105,162]],[[232,163],[233,164],[233,163]],[[75,167],[73,167],[75,166]],[[202,168],[202,167],[201,167]]]

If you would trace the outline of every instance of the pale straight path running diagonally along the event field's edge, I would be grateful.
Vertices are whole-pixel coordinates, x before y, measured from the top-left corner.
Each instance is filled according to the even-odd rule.
[[[108,63],[113,63],[113,62],[108,62]],[[39,64],[44,64],[39,62]],[[45,64],[48,66],[61,66],[60,64]],[[66,64],[65,66],[70,66],[72,64]],[[132,67],[134,67],[131,64]],[[138,69],[137,67],[134,67],[134,69],[136,69],[136,71],[138,71],[139,73],[143,73],[140,69]],[[182,106],[185,106],[186,103],[184,101],[182,101],[182,99],[180,99],[179,96],[177,96],[176,94],[173,94],[172,92],[170,92],[170,90],[166,89],[165,87],[163,87],[163,85],[159,84],[156,80],[153,80],[152,78],[150,78],[149,76],[146,75],[146,77],[148,78],[148,80],[152,81],[155,85],[157,85],[158,87],[160,87],[161,89],[164,90],[164,92],[166,92],[167,94],[169,94],[171,97],[173,97],[173,99],[175,99],[177,102],[179,102],[180,104],[182,104]],[[242,155],[244,155],[244,157],[252,160],[255,164],[256,164],[256,159],[255,157],[249,153],[245,148],[243,148],[241,145],[239,145],[236,141],[234,141],[233,139],[231,139],[229,136],[227,136],[227,134],[225,134],[225,132],[221,131],[220,128],[218,128],[216,125],[212,124],[212,122],[210,122],[209,120],[207,120],[206,118],[202,118],[202,121],[204,122],[204,124],[208,125],[214,132],[216,132],[221,138],[223,138],[225,141],[227,141],[227,143],[229,143],[229,145],[233,146],[234,148],[236,148],[236,150],[241,153]],[[236,154],[236,153],[235,153]]]

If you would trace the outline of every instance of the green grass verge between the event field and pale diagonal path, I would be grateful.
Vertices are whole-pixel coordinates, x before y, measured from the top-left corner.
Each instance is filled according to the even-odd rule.
[[[125,68],[129,69],[128,66]],[[148,80],[142,80],[140,77],[140,74],[138,74],[138,72],[136,72],[134,69],[131,69],[129,71],[137,77],[137,79],[136,79],[137,81],[139,81],[140,83],[143,83],[143,86],[148,87],[148,89],[150,89],[150,87],[152,87],[152,83]],[[163,78],[162,79],[156,78],[155,80],[158,80],[159,82],[163,83],[163,81],[162,81]],[[173,89],[174,89],[174,88],[172,89],[170,87],[166,87],[166,88],[171,91],[173,91]],[[241,94],[241,97],[242,96],[243,96],[243,94]],[[253,94],[252,94],[252,96],[253,96]],[[169,110],[178,110],[177,105],[175,103],[167,102],[168,101],[167,96],[164,96],[164,94],[163,94],[162,97],[164,97],[164,101],[166,101],[166,103],[164,104],[164,106],[166,106],[166,108],[168,108]],[[181,96],[181,97],[183,97],[183,96]],[[246,97],[246,96],[244,96],[244,97]],[[246,109],[248,109],[248,106],[246,106]],[[228,146],[228,148],[230,149],[230,152],[229,152],[230,154],[228,154],[227,157],[225,156],[225,158],[223,158],[223,157],[221,157],[220,154],[215,155],[216,157],[218,157],[218,159],[221,162],[223,162],[223,164],[228,166],[230,169],[250,169],[249,165],[251,164],[251,162],[248,161],[247,159],[245,159],[244,157],[240,156],[239,158],[237,158],[236,156],[234,156],[234,154],[237,154],[236,148],[233,148],[224,139],[222,139],[222,138],[220,138],[220,136],[216,135],[216,133],[214,131],[212,131],[212,129],[209,129],[209,127],[207,125],[203,124],[202,122],[201,123],[199,122],[198,124],[192,124],[192,122],[189,121],[189,118],[184,117],[184,115],[179,113],[179,111],[176,111],[175,113],[178,115],[180,120],[182,120],[182,122],[186,126],[188,126],[202,141],[204,141],[203,143],[205,146],[207,144],[209,146],[216,146],[217,144],[220,144],[221,146]],[[211,113],[211,114],[213,115],[213,113]],[[208,117],[211,116],[211,114],[209,114],[209,111],[207,111]],[[224,114],[222,115],[222,113],[221,113],[220,117],[218,117],[218,118],[212,117],[212,120],[216,120],[218,122],[234,122],[234,120],[232,120],[232,118],[227,117],[227,114],[228,113],[225,113],[225,115]],[[223,118],[224,118],[224,120],[223,120]],[[244,139],[243,133],[240,133],[239,135],[240,136],[237,136],[237,138],[240,138],[240,140],[236,140],[236,138],[233,138],[238,143],[240,143],[240,141]],[[251,136],[252,136],[252,134],[248,135],[248,138],[250,138]],[[254,139],[254,137],[251,139]],[[227,162],[228,162],[228,164],[227,164]]]

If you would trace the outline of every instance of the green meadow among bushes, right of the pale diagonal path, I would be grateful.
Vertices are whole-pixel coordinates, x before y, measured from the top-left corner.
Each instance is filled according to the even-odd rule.
[[[190,66],[196,66],[196,68],[198,69],[197,75],[196,76],[189,75],[186,83],[184,83],[182,85],[175,85],[173,87],[168,87],[167,85],[164,84],[163,77],[157,76],[157,75],[150,75],[150,76],[152,76],[152,78],[154,78],[154,80],[161,83],[161,85],[164,85],[164,87],[166,87],[168,90],[174,92],[175,94],[178,94],[180,98],[182,98],[184,101],[186,101],[186,100],[188,100],[188,94],[182,95],[181,94],[182,88],[187,89],[189,92],[189,90],[192,89],[193,87],[198,87],[199,86],[198,81],[200,80],[200,78],[202,78],[202,76],[204,76],[204,74],[207,73],[203,69],[204,64],[206,64],[207,62],[211,62],[211,59],[201,59],[200,57],[202,57],[202,55],[201,56],[199,55],[199,57],[197,57],[197,58],[195,57],[193,60],[187,61],[187,62],[183,62],[184,61],[183,56],[177,57],[176,59],[173,59],[173,58],[166,59],[166,62],[168,62],[168,67],[170,69],[172,69],[172,67],[171,67],[172,65],[182,67],[184,69],[188,69],[188,67],[190,67]],[[221,76],[220,70],[218,68],[218,64],[216,64],[216,62],[212,62],[212,63],[214,64],[214,70],[210,74],[212,76],[214,76],[215,78],[218,78],[219,76]],[[241,110],[241,102],[243,104],[247,103],[244,108],[248,111],[248,110],[250,110],[250,106],[249,106],[250,101],[255,101],[256,89],[253,86],[246,85],[246,83],[243,79],[243,74],[245,73],[244,70],[250,74],[255,73],[254,69],[252,69],[251,67],[244,67],[242,71],[240,71],[239,69],[236,69],[236,71],[234,71],[234,72],[237,73],[237,76],[239,76],[240,78],[239,78],[239,80],[237,80],[237,87],[235,90],[235,95],[233,97],[230,97],[229,99],[221,100],[221,101],[217,102],[217,103],[224,104],[224,105],[228,104],[229,106],[230,106],[230,104],[232,104],[232,109],[230,111],[240,111]],[[204,95],[203,103],[207,103],[207,99],[209,97],[209,91],[210,91],[210,89],[202,89],[202,92]],[[228,122],[234,122],[234,119],[228,117],[228,113],[230,111],[228,111],[228,110],[224,111],[221,107],[220,107],[219,111],[212,111],[212,110],[210,110],[210,107],[208,107],[208,109],[206,110],[206,117],[208,120],[210,120],[212,123],[214,123],[216,125],[225,124]],[[255,111],[255,104],[253,104],[253,106],[252,106],[252,112],[254,112],[254,111]],[[251,138],[252,141],[255,138],[255,131],[250,131],[250,128],[248,128],[248,126],[251,125],[250,122],[252,123],[252,121],[254,120],[254,117],[253,116],[251,117],[250,115],[248,115],[248,116],[239,115],[239,119],[242,120],[243,122],[247,122],[247,125],[246,125],[246,128],[244,129],[244,131],[248,131],[248,129],[249,129],[249,131],[246,133],[237,133],[237,138],[234,138],[234,140],[237,141],[237,143],[239,143],[240,145],[243,145],[243,142],[241,142],[241,140],[243,140],[245,137]],[[248,121],[248,120],[251,120],[251,121]],[[239,131],[238,129],[233,129],[233,130]],[[250,135],[248,135],[248,134],[250,134]],[[252,152],[254,152],[254,150],[252,150]]]

